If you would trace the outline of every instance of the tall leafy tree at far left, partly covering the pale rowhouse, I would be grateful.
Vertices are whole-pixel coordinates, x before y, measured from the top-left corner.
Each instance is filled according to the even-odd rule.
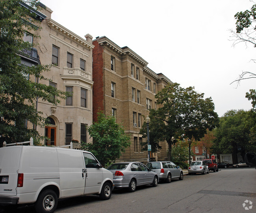
[[[22,6],[25,2],[28,8]],[[43,72],[50,66],[24,66],[19,55],[26,54],[35,44],[23,40],[24,34],[39,37],[40,22],[32,11],[36,0],[12,0],[0,2],[0,143],[34,141],[43,139],[35,129],[25,127],[25,121],[44,126],[46,118],[35,106],[37,98],[53,104],[66,93],[37,83],[36,79],[49,81]],[[55,97],[55,98],[53,98]]]

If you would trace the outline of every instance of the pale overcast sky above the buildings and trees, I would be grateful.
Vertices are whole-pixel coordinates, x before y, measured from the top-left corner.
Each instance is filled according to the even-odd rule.
[[[106,36],[128,46],[182,87],[211,97],[215,112],[249,110],[245,98],[256,80],[232,81],[242,71],[255,73],[256,48],[232,46],[237,12],[250,9],[251,0],[41,0],[52,19],[84,38]],[[256,3],[255,3],[256,4]],[[237,88],[236,88],[237,87]]]

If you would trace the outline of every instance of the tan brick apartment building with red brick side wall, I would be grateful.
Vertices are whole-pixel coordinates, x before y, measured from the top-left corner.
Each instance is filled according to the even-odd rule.
[[[93,120],[98,110],[116,117],[122,123],[131,145],[117,161],[147,162],[147,151],[141,151],[139,134],[149,108],[157,108],[155,95],[168,83],[162,73],[156,74],[147,67],[148,62],[127,46],[121,48],[107,37],[93,40]],[[168,145],[151,154],[154,160],[167,157]]]

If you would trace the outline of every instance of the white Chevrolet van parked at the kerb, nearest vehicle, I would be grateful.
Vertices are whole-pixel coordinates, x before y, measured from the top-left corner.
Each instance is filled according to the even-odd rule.
[[[97,194],[111,197],[113,174],[91,152],[60,147],[0,148],[0,205],[35,203],[51,213],[59,198]]]

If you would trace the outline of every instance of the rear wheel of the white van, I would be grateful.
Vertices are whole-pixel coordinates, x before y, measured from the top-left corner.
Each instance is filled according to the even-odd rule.
[[[37,213],[52,213],[58,205],[58,198],[54,191],[47,189],[40,193],[35,202],[35,211]]]

